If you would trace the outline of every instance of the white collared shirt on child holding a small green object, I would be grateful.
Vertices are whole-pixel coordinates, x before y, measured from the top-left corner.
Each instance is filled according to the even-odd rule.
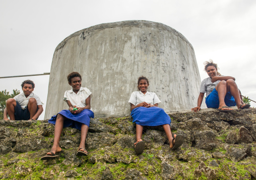
[[[64,93],[64,101],[67,102],[70,101],[72,106],[77,107],[85,107],[85,100],[91,95],[91,91],[87,89],[86,87],[81,87],[80,90],[77,92],[77,94],[73,91],[73,89],[68,90]],[[91,95],[92,97],[92,95]],[[92,110],[92,108],[91,108]]]

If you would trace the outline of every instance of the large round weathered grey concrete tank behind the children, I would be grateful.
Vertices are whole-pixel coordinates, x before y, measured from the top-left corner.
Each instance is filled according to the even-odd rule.
[[[194,49],[183,35],[161,23],[101,24],[63,40],[52,59],[45,118],[68,109],[62,99],[71,89],[67,76],[73,71],[93,93],[95,117],[129,115],[127,101],[142,75],[165,111],[197,105],[201,80]]]

